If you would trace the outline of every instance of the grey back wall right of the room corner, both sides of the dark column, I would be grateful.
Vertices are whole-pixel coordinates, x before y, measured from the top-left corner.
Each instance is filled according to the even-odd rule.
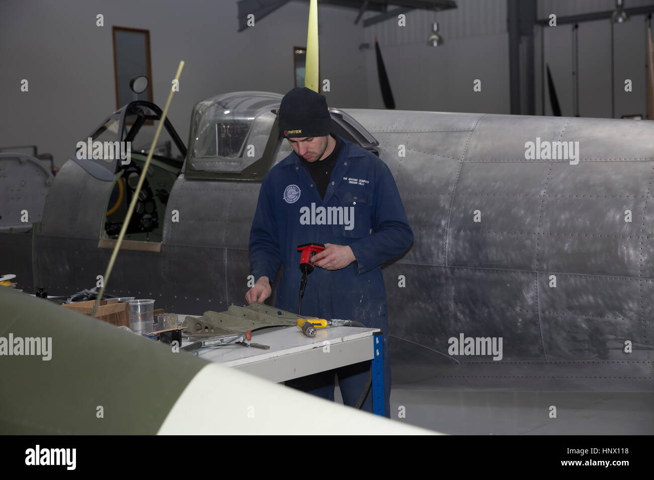
[[[364,29],[368,68],[368,108],[385,108],[375,60],[374,41],[384,57],[396,108],[445,112],[510,113],[509,38],[506,0],[456,0],[458,8],[443,12],[414,10],[406,27],[388,20]],[[654,0],[626,0],[625,7],[653,5]],[[538,0],[538,19],[550,13],[570,16],[613,10],[615,0]],[[366,18],[374,16],[367,14]],[[438,21],[445,42],[426,46],[432,22]],[[645,114],[645,16],[615,25],[615,118]],[[549,63],[563,116],[574,116],[572,93],[572,25],[544,31]],[[579,25],[579,115],[611,118],[610,24],[608,20]],[[534,27],[536,114],[543,114],[541,27]],[[481,92],[473,92],[479,78]],[[625,79],[632,91],[625,92]],[[545,91],[545,115],[551,116]]]

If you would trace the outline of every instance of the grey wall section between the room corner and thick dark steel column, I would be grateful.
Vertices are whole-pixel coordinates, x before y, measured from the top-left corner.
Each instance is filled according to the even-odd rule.
[[[398,110],[510,113],[506,0],[456,0],[443,12],[413,10],[406,26],[388,20],[364,29],[368,108],[385,108],[375,59],[378,37]],[[368,14],[374,16],[374,14]],[[445,40],[427,46],[432,23]],[[473,80],[481,91],[473,92]]]

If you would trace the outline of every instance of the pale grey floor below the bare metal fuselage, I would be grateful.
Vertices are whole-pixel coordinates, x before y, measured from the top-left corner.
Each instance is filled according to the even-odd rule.
[[[342,402],[338,388],[335,400]],[[400,407],[404,418],[398,417]],[[653,435],[654,392],[397,388],[390,394],[390,415],[453,435]]]

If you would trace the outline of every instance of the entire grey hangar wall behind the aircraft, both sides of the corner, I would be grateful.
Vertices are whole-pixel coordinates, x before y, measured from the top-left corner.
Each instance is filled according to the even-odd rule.
[[[653,0],[628,0],[626,7]],[[153,8],[152,5],[156,5]],[[457,0],[443,12],[413,10],[406,27],[388,20],[354,25],[356,10],[319,5],[320,77],[328,78],[328,103],[339,108],[384,108],[377,79],[374,37],[379,37],[390,84],[400,110],[509,113],[506,0]],[[613,0],[538,1],[538,16],[610,10]],[[105,27],[95,16],[105,16]],[[368,12],[364,18],[375,16]],[[426,46],[433,20],[445,44]],[[37,144],[63,165],[75,143],[116,108],[111,26],[150,30],[155,103],[163,103],[179,59],[186,61],[181,91],[169,118],[188,137],[194,104],[228,91],[292,88],[293,45],[306,42],[307,3],[293,0],[237,33],[235,0],[129,1],[4,0],[0,2],[0,146]],[[579,112],[610,116],[608,22],[588,22],[579,31]],[[65,25],[65,27],[61,27]],[[322,27],[322,25],[330,25]],[[542,114],[540,27],[536,42],[536,113]],[[572,110],[570,25],[547,30],[549,62],[564,116]],[[615,116],[644,113],[644,16],[615,29]],[[643,41],[642,41],[643,40]],[[360,50],[364,42],[371,48]],[[597,55],[600,50],[606,54]],[[29,80],[29,91],[20,81]],[[480,92],[473,80],[482,81]],[[633,91],[625,93],[630,78]],[[599,100],[598,100],[599,99]],[[551,115],[545,92],[545,114]]]

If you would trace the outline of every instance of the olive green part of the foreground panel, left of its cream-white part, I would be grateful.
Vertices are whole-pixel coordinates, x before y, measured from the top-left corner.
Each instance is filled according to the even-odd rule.
[[[0,312],[0,434],[156,434],[207,364],[5,287]],[[7,355],[37,337],[41,355]]]

